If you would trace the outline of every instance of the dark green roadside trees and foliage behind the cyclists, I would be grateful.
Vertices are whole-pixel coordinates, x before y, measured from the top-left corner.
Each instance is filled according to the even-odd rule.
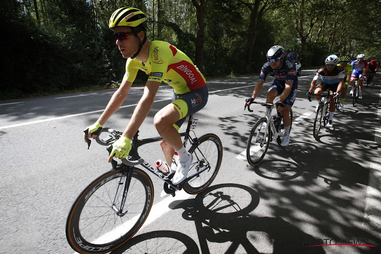
[[[380,1],[205,3],[202,69],[207,77],[257,73],[273,45],[300,51],[303,68],[321,66],[332,53],[364,53],[369,58],[381,58],[381,30],[377,22],[381,20]],[[112,81],[120,81],[125,59],[117,50],[108,20],[123,6],[136,7],[147,14],[150,40],[167,41],[195,60],[200,38],[191,0],[1,1],[0,21],[6,25],[0,28],[5,63],[0,100],[101,89],[112,87]],[[369,22],[354,24],[352,17],[359,18],[358,10]],[[255,26],[250,27],[250,20],[255,21],[251,22]],[[250,38],[255,39],[251,51]],[[135,83],[144,84],[146,80],[147,76],[139,72]]]

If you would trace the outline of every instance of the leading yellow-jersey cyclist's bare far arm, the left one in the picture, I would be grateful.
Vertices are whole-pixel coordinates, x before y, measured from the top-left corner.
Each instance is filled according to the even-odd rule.
[[[123,79],[121,85],[114,92],[109,103],[107,104],[105,111],[103,111],[102,115],[98,119],[98,122],[101,125],[104,125],[105,122],[110,118],[110,116],[112,116],[119,109],[119,107],[122,105],[125,98],[127,97],[127,93],[129,92],[131,85],[131,82]]]

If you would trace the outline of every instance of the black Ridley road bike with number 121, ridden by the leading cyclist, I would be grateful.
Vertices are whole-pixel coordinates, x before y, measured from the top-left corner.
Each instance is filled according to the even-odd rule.
[[[181,189],[191,195],[199,194],[212,183],[221,165],[223,146],[215,134],[196,137],[193,131],[195,123],[192,115],[189,116],[186,131],[180,133],[184,147],[189,142],[188,152],[193,154],[193,161],[188,177],[178,185],[171,182],[174,173],[163,174],[138,153],[138,147],[164,139],[140,140],[137,133],[130,155],[120,164],[113,160],[112,170],[93,180],[82,191],[70,209],[66,224],[66,236],[75,251],[110,252],[130,240],[142,227],[152,207],[153,184],[148,174],[136,167],[138,165],[163,180],[165,192],[173,197]],[[102,138],[104,133],[107,136]],[[110,152],[110,144],[121,134],[103,128],[96,141],[107,145]]]

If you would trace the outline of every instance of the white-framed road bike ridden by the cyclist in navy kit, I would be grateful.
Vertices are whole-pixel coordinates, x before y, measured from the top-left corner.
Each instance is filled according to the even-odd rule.
[[[260,118],[251,129],[249,138],[247,140],[247,145],[246,145],[247,162],[251,166],[256,166],[260,164],[263,158],[265,157],[270,141],[273,141],[274,139],[276,139],[278,145],[282,143],[283,136],[284,136],[284,123],[283,123],[283,116],[278,111],[276,116],[271,115],[272,110],[275,108],[274,107],[275,104],[263,103],[263,102],[251,102],[251,104],[253,103],[261,104],[262,106],[266,107],[265,116]],[[252,110],[250,110],[247,103],[245,104],[245,108],[246,106],[247,106],[247,110],[249,112],[252,112]],[[292,109],[290,110],[290,119],[291,119],[291,126],[290,126],[290,132],[291,132],[292,120],[293,120]]]

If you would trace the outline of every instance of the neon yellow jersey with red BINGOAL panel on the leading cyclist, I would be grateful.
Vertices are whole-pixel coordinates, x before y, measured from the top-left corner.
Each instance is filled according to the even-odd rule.
[[[134,82],[139,70],[149,75],[148,80],[169,84],[177,94],[206,85],[204,76],[193,61],[181,50],[163,41],[151,42],[146,62],[129,58],[123,79]]]

